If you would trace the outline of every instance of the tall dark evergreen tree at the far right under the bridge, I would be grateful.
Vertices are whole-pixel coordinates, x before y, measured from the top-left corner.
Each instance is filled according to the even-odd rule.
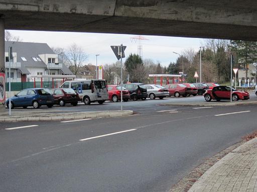
[[[238,61],[243,63],[245,68],[245,78],[248,75],[248,65],[249,63],[256,62],[257,60],[257,43],[255,41],[245,41],[245,40],[231,40],[229,48],[231,51],[236,53]]]

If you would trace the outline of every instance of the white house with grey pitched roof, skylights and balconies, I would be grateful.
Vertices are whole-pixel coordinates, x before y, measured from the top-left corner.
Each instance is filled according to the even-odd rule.
[[[12,63],[9,62],[9,47],[13,50]],[[12,82],[33,80],[28,78],[28,75],[72,74],[68,67],[58,62],[58,55],[47,43],[6,41],[5,56],[6,82],[9,81],[9,65]]]

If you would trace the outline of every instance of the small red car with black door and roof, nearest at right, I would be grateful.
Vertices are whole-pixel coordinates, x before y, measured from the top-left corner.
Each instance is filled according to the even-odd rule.
[[[214,86],[213,89],[207,89],[204,93],[204,98],[206,101],[211,101],[215,99],[219,100],[229,100],[230,99],[230,86]],[[232,100],[247,100],[249,99],[249,93],[246,91],[238,91],[232,88]]]

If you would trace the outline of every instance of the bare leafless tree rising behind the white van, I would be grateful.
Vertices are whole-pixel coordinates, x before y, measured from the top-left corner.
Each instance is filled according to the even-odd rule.
[[[88,55],[75,43],[69,46],[66,55],[68,57],[69,68],[76,75],[79,67],[84,65],[84,61],[88,58]]]

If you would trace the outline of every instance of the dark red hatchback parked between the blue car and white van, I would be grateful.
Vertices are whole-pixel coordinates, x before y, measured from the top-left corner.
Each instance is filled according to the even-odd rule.
[[[80,100],[79,94],[72,88],[55,88],[52,89],[54,95],[54,103],[60,106],[65,106],[66,103],[71,103],[76,106]]]

